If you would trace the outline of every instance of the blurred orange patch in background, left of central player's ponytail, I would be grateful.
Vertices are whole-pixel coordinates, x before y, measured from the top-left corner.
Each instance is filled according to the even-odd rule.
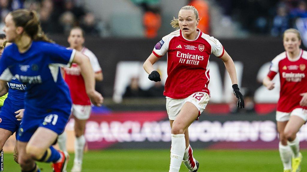
[[[143,16],[146,38],[155,38],[161,27],[161,16],[152,11],[146,11]]]

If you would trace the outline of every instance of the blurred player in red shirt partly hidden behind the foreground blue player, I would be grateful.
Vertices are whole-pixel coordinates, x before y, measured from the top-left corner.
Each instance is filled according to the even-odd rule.
[[[95,72],[95,80],[103,80],[103,74],[97,57],[83,46],[84,31],[82,28],[72,28],[68,36],[68,43],[70,44],[70,49],[76,49],[90,59],[92,68]],[[80,172],[82,169],[83,150],[86,142],[84,137],[85,124],[91,114],[91,101],[85,91],[84,79],[81,75],[80,67],[76,63],[72,63],[71,68],[64,68],[64,79],[68,84],[72,96],[72,115],[75,119],[75,159],[72,172]],[[66,140],[66,133],[59,136],[58,144],[63,151],[66,151]]]

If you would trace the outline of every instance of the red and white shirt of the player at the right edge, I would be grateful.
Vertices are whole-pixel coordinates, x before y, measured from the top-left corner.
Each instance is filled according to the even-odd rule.
[[[277,111],[291,112],[301,107],[301,93],[307,92],[307,52],[301,50],[296,59],[290,59],[287,52],[283,52],[272,60],[268,77],[273,79],[279,73],[280,95]]]

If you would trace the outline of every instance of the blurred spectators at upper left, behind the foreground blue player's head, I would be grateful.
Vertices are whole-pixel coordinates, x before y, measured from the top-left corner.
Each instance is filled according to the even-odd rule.
[[[19,8],[37,11],[46,33],[67,33],[72,27],[80,26],[86,34],[99,35],[103,29],[95,15],[84,9],[82,0],[0,0],[0,28],[5,16]]]

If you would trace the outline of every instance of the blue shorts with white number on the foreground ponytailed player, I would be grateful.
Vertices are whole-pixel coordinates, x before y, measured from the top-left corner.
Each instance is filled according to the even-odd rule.
[[[38,127],[50,129],[60,135],[63,133],[71,111],[25,108],[17,140],[28,142]]]

